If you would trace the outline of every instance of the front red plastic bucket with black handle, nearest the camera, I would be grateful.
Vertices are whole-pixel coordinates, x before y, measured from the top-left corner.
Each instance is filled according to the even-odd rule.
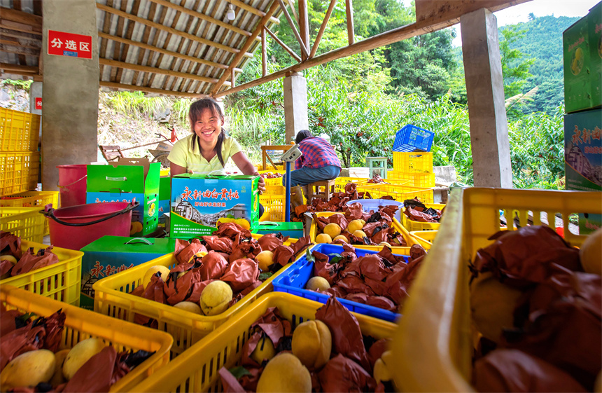
[[[90,203],[42,210],[48,217],[50,244],[80,249],[104,235],[130,236],[132,209],[138,202]]]

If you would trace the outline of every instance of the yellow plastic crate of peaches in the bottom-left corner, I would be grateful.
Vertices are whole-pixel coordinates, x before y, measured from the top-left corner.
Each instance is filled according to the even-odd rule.
[[[42,317],[50,317],[62,309],[66,318],[61,349],[71,348],[80,341],[96,337],[113,345],[118,352],[124,350],[155,352],[114,383],[109,392],[138,391],[137,385],[140,382],[146,380],[169,361],[169,347],[172,346],[173,340],[165,332],[98,315],[92,311],[31,294],[10,285],[0,287],[0,303],[5,305],[8,310],[34,312]]]

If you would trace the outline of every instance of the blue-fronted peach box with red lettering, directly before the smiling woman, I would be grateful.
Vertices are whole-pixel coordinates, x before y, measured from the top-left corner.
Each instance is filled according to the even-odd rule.
[[[172,179],[171,237],[211,235],[219,222],[255,229],[259,221],[258,176],[181,174]]]

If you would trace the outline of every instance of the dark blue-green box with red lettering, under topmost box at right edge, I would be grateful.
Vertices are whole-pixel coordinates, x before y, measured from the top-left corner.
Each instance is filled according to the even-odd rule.
[[[602,191],[602,109],[564,116],[566,189]],[[594,232],[602,225],[600,214],[580,214],[579,232]]]

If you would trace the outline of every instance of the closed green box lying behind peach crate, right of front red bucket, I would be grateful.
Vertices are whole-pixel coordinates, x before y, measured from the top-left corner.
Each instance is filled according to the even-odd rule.
[[[176,240],[169,238],[103,236],[87,244],[81,249],[84,254],[81,263],[80,307],[90,310],[94,308],[94,282],[170,254],[175,249]]]

